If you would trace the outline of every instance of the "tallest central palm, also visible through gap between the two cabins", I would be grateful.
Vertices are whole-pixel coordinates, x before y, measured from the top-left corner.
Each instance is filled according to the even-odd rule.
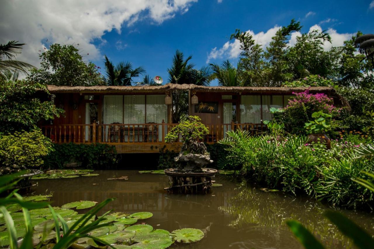
[[[169,83],[173,84],[196,84],[199,86],[209,86],[211,81],[210,67],[202,67],[200,70],[194,69],[194,65],[189,61],[192,56],[184,59],[181,51],[177,50],[173,57],[172,66],[168,68]],[[173,91],[173,122],[179,122],[180,118],[188,114],[188,94],[183,90]]]

